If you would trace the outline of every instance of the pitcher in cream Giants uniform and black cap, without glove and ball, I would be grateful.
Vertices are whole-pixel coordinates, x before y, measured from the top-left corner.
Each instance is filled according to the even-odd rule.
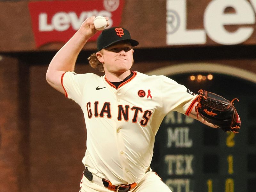
[[[164,116],[175,110],[217,126],[197,117],[197,95],[185,86],[165,76],[130,70],[133,47],[139,43],[125,28],[103,30],[97,52],[88,58],[104,76],[76,74],[78,53],[98,32],[94,18],[83,22],[53,57],[46,73],[47,82],[76,101],[84,113],[87,150],[80,192],[170,192],[150,168],[155,135]]]

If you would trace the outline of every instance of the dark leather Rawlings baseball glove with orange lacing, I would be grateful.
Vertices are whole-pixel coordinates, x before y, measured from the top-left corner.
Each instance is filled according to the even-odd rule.
[[[234,107],[234,100],[231,102],[215,93],[199,90],[195,111],[204,120],[220,127],[223,131],[238,133],[241,120]]]

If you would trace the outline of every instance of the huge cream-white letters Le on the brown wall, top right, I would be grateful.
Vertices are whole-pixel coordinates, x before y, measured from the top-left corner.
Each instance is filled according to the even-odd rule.
[[[256,0],[209,1],[204,10],[204,29],[187,29],[187,0],[167,0],[166,6],[168,45],[206,44],[206,35],[218,44],[240,44],[249,39],[254,31]],[[234,11],[227,13],[227,8]],[[199,10],[196,14],[200,13]],[[234,30],[229,31],[226,26],[233,26]]]

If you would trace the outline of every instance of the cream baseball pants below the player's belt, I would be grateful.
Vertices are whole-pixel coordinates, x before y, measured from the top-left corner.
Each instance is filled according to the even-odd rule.
[[[93,177],[97,177],[93,175]],[[101,180],[101,178],[97,178]],[[92,180],[93,181],[93,180]],[[83,174],[79,192],[111,192],[103,186],[89,181]],[[155,172],[147,172],[138,183],[137,187],[130,192],[172,192]]]

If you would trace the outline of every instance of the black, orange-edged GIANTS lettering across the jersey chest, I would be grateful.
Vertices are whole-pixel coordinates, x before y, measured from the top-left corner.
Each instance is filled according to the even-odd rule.
[[[91,119],[92,116],[94,117],[107,117],[109,119],[112,118],[111,115],[111,108],[110,108],[110,102],[105,102],[102,107],[99,109],[99,101],[95,101],[94,104],[92,104],[91,102],[88,102],[86,104],[86,108],[87,108],[87,113],[88,113],[88,118]],[[152,115],[152,111],[150,110],[145,110],[143,111],[142,108],[140,107],[136,107],[136,106],[132,106],[130,108],[129,105],[118,105],[117,106],[117,110],[118,110],[118,116],[117,116],[117,120],[118,121],[129,121],[129,115],[130,117],[132,117],[132,123],[137,123],[138,122],[138,116],[140,114],[142,115],[142,119],[140,120],[140,125],[145,127],[148,124],[148,120],[150,119],[151,115]],[[129,111],[132,111],[132,113],[129,113]],[[94,112],[94,113],[93,113]]]

